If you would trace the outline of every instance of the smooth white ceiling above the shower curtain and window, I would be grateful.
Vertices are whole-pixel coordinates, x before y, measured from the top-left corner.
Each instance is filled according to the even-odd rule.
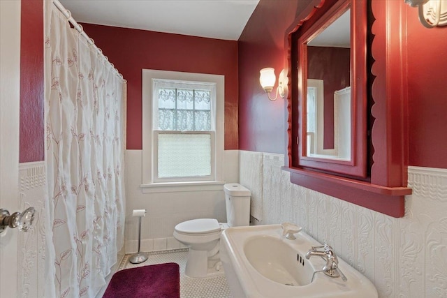
[[[259,0],[59,0],[76,22],[238,40]],[[88,32],[87,32],[88,34]]]

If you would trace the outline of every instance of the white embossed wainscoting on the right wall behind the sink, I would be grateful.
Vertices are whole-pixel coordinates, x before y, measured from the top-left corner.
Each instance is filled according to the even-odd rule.
[[[321,242],[376,285],[379,297],[447,297],[447,169],[409,167],[403,218],[393,218],[291,184],[281,170],[284,156],[240,151],[240,179],[262,175],[262,221],[290,221]],[[250,184],[250,182],[248,182]],[[253,190],[251,191],[259,191]]]

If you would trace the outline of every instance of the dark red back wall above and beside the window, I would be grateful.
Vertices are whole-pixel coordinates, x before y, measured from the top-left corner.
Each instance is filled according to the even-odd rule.
[[[127,80],[127,149],[142,149],[142,69],[225,75],[225,149],[238,149],[237,41],[82,24]]]

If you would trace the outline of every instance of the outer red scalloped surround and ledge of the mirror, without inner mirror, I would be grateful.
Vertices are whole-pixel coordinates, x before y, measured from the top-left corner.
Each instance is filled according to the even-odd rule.
[[[318,19],[336,0],[322,0],[308,15],[303,15],[297,27],[288,32],[288,161],[284,170],[291,172],[291,182],[305,186],[335,198],[358,204],[393,217],[404,216],[404,196],[411,194],[407,184],[408,124],[406,83],[406,14],[403,1],[370,1],[369,10],[373,17],[370,54],[371,73],[371,158],[369,177],[365,180],[342,177],[331,172],[318,172],[293,165],[291,146],[293,129],[299,122],[293,114],[293,85],[297,77],[291,73],[298,57],[293,57],[291,35],[309,27],[307,20]],[[401,3],[402,2],[402,3]],[[296,112],[295,112],[296,114]],[[299,129],[299,127],[298,127]]]

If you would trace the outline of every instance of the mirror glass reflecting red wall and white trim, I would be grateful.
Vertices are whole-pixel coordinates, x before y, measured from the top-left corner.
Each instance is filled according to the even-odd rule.
[[[350,12],[307,41],[307,156],[351,160]]]

